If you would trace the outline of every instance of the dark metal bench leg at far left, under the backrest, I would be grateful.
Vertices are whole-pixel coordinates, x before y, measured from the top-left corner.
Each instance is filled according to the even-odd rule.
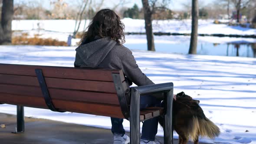
[[[24,107],[17,105],[17,127],[14,134],[23,133],[25,129],[24,126]]]

